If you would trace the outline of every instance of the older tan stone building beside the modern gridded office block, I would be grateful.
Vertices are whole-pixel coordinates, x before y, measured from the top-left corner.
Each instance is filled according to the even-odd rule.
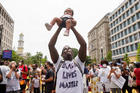
[[[88,51],[91,59],[100,63],[110,50],[109,13],[106,14],[88,33]]]

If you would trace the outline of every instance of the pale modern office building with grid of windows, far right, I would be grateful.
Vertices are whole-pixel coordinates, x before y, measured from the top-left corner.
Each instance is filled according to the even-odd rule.
[[[124,0],[109,16],[112,58],[122,60],[127,53],[136,61],[140,42],[140,0]]]

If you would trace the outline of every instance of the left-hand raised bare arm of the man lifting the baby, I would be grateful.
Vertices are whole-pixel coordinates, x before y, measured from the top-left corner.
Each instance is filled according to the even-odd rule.
[[[58,52],[57,52],[57,50],[55,48],[55,44],[56,44],[56,41],[57,41],[57,38],[58,38],[58,35],[59,35],[61,29],[62,29],[61,27],[59,27],[57,29],[57,31],[52,36],[52,38],[51,38],[51,40],[49,42],[49,45],[48,45],[49,50],[50,50],[51,59],[52,59],[53,63],[56,63],[57,60],[58,60],[58,57],[59,57],[59,54],[58,54]]]

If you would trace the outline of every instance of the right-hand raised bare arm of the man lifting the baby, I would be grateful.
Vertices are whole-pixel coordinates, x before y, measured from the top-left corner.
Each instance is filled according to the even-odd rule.
[[[83,37],[76,31],[76,29],[74,27],[72,27],[71,29],[72,29],[73,33],[75,34],[78,43],[80,44],[78,56],[79,56],[80,60],[82,62],[84,62],[86,60],[86,50],[87,50],[86,42],[83,39]]]

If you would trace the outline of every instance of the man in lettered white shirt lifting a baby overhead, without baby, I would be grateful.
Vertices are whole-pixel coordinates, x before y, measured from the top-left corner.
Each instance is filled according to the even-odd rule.
[[[65,46],[60,57],[55,44],[62,27],[59,27],[49,42],[51,59],[56,70],[56,93],[83,93],[84,61],[86,60],[86,42],[74,27],[71,27],[80,44],[78,55],[73,59],[72,48]]]

